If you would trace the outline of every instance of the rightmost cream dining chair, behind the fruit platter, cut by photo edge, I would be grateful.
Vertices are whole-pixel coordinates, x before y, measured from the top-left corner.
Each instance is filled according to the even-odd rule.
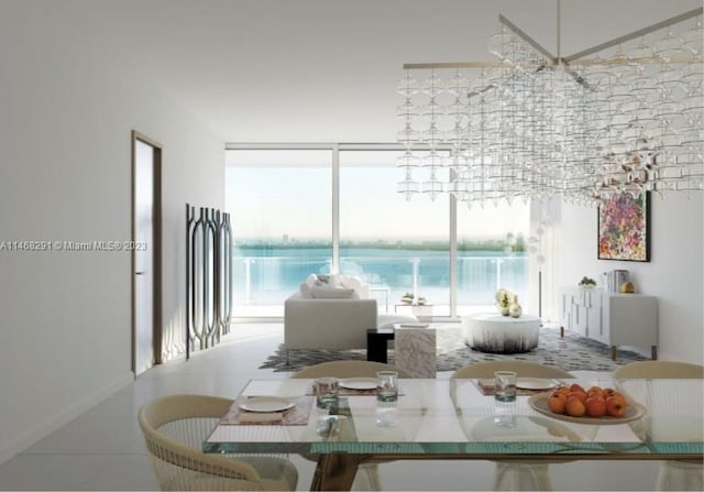
[[[624,380],[702,380],[704,367],[688,362],[647,360],[620,365],[614,371],[617,385]],[[647,420],[646,420],[647,422]],[[690,431],[692,431],[690,429]],[[658,470],[656,490],[704,490],[704,467],[701,461],[663,461]]]

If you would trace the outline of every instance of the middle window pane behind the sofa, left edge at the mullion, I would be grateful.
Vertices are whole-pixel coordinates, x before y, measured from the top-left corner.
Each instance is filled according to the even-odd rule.
[[[403,311],[400,297],[425,297],[450,315],[449,197],[395,193],[399,151],[340,151],[340,272],[371,284],[380,310]]]

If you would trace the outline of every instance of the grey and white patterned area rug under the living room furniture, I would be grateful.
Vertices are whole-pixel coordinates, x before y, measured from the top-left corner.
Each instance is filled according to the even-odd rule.
[[[474,362],[495,360],[521,360],[556,365],[565,371],[613,371],[628,362],[647,360],[639,353],[618,350],[616,361],[613,361],[610,347],[568,330],[564,331],[564,338],[560,338],[560,329],[552,327],[540,328],[537,348],[530,352],[514,354],[472,350],[464,345],[459,324],[435,324],[432,328],[437,329],[438,371],[454,371]],[[366,360],[366,350],[290,350],[287,365],[286,351],[282,345],[260,365],[260,369],[273,369],[274,372],[298,371],[307,365],[333,360]],[[388,350],[388,362],[394,363],[393,349]]]

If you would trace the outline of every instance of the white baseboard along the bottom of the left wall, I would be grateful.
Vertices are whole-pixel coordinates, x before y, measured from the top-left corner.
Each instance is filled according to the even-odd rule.
[[[70,420],[73,420],[84,412],[92,408],[103,400],[133,383],[134,373],[128,372],[116,379],[112,383],[102,386],[100,391],[97,391],[77,401],[75,405],[72,405],[64,412],[59,414],[52,414],[51,419],[38,423],[38,425],[31,429],[28,429],[28,431],[23,433],[20,437],[11,440],[10,442],[4,441],[0,444],[0,464],[21,453],[30,446],[44,439],[54,430],[68,424]]]

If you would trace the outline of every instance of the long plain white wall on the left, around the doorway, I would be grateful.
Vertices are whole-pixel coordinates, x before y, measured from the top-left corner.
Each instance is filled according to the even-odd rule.
[[[164,145],[164,324],[183,334],[184,204],[223,207],[223,139],[82,32],[75,10],[1,9],[0,245],[131,239],[138,130]],[[130,254],[7,247],[0,462],[133,380]]]

